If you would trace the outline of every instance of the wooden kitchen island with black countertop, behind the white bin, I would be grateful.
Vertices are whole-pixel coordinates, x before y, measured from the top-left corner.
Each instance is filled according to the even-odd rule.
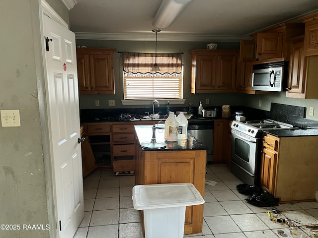
[[[193,136],[178,142],[165,142],[164,129],[156,129],[157,142],[165,142],[162,149],[142,148],[142,142],[153,137],[152,125],[135,125],[136,185],[183,183],[194,184],[204,197],[206,147]],[[142,223],[143,211],[140,212]],[[187,206],[184,234],[202,232],[203,205]]]

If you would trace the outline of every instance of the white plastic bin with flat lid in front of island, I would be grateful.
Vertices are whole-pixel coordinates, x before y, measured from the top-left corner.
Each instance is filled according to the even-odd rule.
[[[136,210],[144,210],[145,238],[183,238],[185,207],[204,203],[192,183],[133,187]]]

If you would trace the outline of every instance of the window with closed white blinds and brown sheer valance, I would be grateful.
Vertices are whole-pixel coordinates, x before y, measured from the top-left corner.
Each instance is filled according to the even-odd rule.
[[[157,57],[157,59],[156,59]],[[160,72],[152,72],[157,62]],[[182,99],[181,53],[123,53],[124,100]]]

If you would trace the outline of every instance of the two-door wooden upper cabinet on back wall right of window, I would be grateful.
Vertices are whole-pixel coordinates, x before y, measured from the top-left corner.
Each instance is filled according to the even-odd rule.
[[[191,93],[233,92],[238,50],[193,50]]]

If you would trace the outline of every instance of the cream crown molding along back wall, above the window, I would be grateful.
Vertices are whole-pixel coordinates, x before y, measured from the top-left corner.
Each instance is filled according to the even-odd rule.
[[[113,41],[155,41],[154,34],[149,32],[127,32],[127,33],[89,33],[75,32],[76,39],[85,40],[113,40]],[[196,35],[188,33],[164,33],[158,34],[158,41],[177,42],[239,42],[250,39],[249,36],[211,36]]]

